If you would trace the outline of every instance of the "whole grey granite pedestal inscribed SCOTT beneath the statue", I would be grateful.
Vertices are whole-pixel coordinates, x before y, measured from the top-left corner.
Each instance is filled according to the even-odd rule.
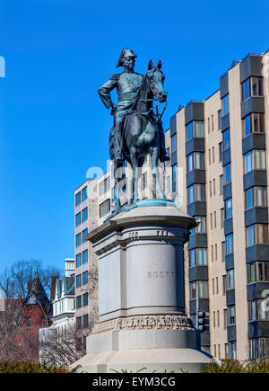
[[[99,256],[99,322],[74,365],[200,372],[211,357],[185,311],[184,247],[195,218],[172,202],[108,219],[88,235]]]

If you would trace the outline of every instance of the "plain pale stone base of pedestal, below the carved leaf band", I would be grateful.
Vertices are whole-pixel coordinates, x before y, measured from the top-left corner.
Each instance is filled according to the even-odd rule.
[[[125,330],[87,338],[86,356],[74,363],[93,373],[202,372],[211,356],[196,349],[195,330]]]

